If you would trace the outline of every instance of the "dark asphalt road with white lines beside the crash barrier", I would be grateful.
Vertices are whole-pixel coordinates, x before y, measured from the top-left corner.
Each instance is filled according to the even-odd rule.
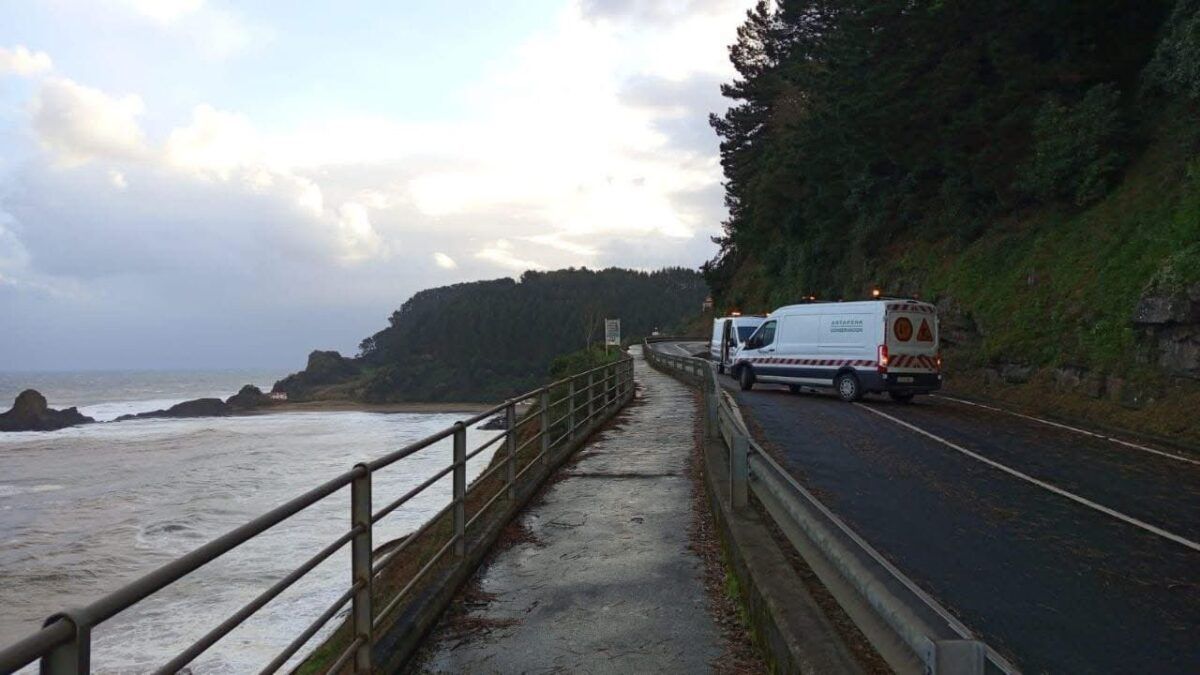
[[[941,396],[737,399],[793,476],[1026,673],[1200,673],[1195,456]]]

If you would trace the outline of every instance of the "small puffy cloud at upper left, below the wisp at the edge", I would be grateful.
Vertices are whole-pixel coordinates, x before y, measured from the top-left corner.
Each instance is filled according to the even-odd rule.
[[[139,96],[115,97],[65,78],[42,83],[32,103],[38,142],[61,165],[78,166],[96,157],[144,156],[145,135],[138,118],[145,106]]]

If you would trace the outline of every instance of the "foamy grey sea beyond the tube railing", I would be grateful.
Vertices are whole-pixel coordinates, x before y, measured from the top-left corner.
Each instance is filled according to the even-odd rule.
[[[359,461],[467,417],[282,412],[107,422],[188,399],[227,398],[244,384],[268,390],[282,375],[0,374],[5,410],[20,390],[34,388],[52,407],[77,406],[104,422],[0,434],[0,649],[37,631],[56,611],[103,597]],[[468,449],[496,434],[470,429]],[[470,460],[468,480],[487,466],[498,446]],[[446,440],[377,472],[374,508],[446,466],[451,452]],[[419,527],[449,502],[450,490],[448,476],[379,521],[376,545]],[[116,615],[94,633],[92,671],[156,669],[341,536],[348,524],[349,490],[342,490]],[[336,601],[349,579],[344,546],[192,662],[192,673],[257,671]]]

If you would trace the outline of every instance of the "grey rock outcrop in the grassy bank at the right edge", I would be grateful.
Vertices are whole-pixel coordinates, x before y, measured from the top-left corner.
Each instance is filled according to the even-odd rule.
[[[1138,338],[1170,375],[1200,380],[1200,282],[1150,288],[1133,312]]]

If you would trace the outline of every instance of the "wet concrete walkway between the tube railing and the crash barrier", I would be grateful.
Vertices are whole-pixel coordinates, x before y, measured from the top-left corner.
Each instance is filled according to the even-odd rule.
[[[479,577],[486,602],[443,619],[425,671],[702,673],[721,655],[688,548],[691,393],[635,368],[640,398],[521,515],[532,540]]]

